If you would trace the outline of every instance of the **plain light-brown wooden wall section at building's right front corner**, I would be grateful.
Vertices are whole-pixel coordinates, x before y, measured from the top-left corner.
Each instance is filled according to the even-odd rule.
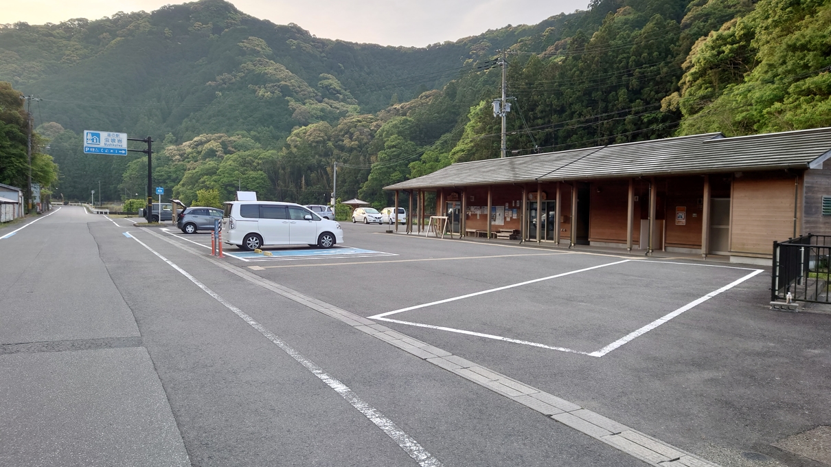
[[[784,172],[745,173],[733,179],[731,252],[770,256],[774,240],[794,236],[794,179]]]

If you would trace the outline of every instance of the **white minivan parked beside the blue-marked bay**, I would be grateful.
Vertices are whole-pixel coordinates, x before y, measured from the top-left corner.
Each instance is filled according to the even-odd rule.
[[[229,201],[222,224],[224,242],[248,251],[269,245],[332,248],[343,243],[341,224],[294,203]]]

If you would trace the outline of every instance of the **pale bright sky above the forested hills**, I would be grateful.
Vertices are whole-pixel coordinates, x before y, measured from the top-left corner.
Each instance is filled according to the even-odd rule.
[[[150,12],[173,0],[27,0],[6,2],[0,23],[98,19]],[[317,37],[423,47],[455,41],[508,24],[535,24],[560,12],[586,9],[588,0],[236,0],[242,12],[277,24],[297,23]]]

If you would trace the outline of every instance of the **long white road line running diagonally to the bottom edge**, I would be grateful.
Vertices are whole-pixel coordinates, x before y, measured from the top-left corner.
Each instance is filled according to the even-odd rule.
[[[349,402],[353,407],[355,407],[361,414],[366,416],[372,423],[374,423],[378,428],[381,429],[387,436],[389,436],[392,440],[396,441],[396,443],[401,446],[401,449],[404,450],[411,458],[416,460],[422,467],[441,467],[441,462],[433,457],[427,450],[424,449],[423,446],[418,444],[418,442],[407,435],[403,430],[398,428],[392,420],[386,418],[384,414],[382,414],[379,410],[375,409],[374,407],[367,404],[365,401],[361,400],[352,389],[350,389],[347,385],[343,384],[341,381],[337,380],[334,376],[330,376],[327,374],[326,371],[320,366],[317,366],[317,363],[307,359],[305,356],[296,350],[293,347],[289,346],[286,342],[283,342],[282,339],[277,337],[273,332],[269,331],[268,328],[264,327],[259,322],[255,321],[253,317],[249,317],[248,314],[240,310],[238,307],[234,307],[230,302],[225,300],[223,297],[220,297],[217,292],[214,292],[210,288],[208,288],[204,283],[199,282],[197,278],[194,278],[190,275],[187,271],[182,268],[179,268],[178,265],[170,261],[170,259],[165,258],[160,253],[156,252],[153,248],[147,246],[146,243],[142,242],[140,239],[135,238],[135,236],[130,236],[136,242],[140,243],[141,246],[150,250],[150,253],[155,254],[165,263],[170,264],[170,267],[174,268],[176,271],[179,271],[185,278],[188,278],[190,282],[194,283],[197,287],[201,288],[205,293],[214,297],[217,302],[220,302],[224,305],[224,307],[228,308],[235,315],[242,318],[244,322],[247,322],[249,326],[256,329],[260,334],[266,337],[269,341],[273,342],[277,347],[280,347],[281,350],[286,352],[289,356],[291,356],[295,361],[300,363],[304,366],[308,371],[311,371],[314,376],[317,376],[321,381],[326,383],[327,386],[332,388],[333,391],[337,392],[340,396]]]

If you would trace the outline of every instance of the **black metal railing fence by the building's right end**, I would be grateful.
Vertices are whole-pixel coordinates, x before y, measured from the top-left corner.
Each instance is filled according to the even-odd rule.
[[[831,302],[831,235],[808,234],[774,242],[770,300]]]

